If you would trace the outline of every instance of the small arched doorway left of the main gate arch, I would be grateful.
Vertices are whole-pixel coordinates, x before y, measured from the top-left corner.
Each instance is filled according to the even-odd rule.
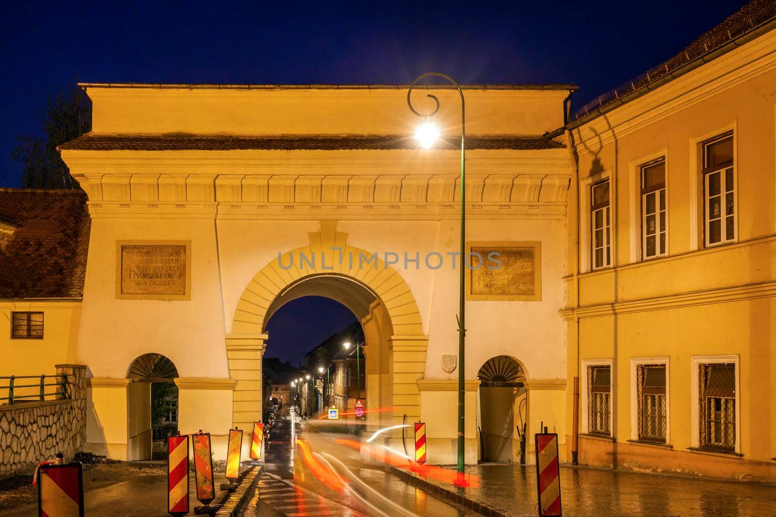
[[[178,369],[159,353],[144,353],[130,364],[127,386],[127,460],[150,460],[154,438],[178,429]],[[164,453],[163,450],[161,450]]]

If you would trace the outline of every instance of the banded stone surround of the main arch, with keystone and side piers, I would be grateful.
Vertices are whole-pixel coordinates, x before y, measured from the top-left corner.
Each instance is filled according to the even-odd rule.
[[[308,233],[308,241],[307,245],[265,264],[245,286],[237,302],[231,334],[227,336],[230,377],[237,380],[234,425],[248,429],[261,416],[261,360],[272,302],[305,277],[331,274],[362,284],[385,308],[392,327],[386,340],[393,357],[393,420],[400,422],[404,415],[419,418],[421,395],[417,380],[424,376],[428,336],[423,332],[421,312],[410,286],[376,254],[349,245],[348,233],[338,232],[336,221],[321,221],[320,232]],[[301,260],[302,255],[314,260]],[[368,318],[362,322],[365,319]],[[253,364],[253,373],[246,375],[248,363]]]

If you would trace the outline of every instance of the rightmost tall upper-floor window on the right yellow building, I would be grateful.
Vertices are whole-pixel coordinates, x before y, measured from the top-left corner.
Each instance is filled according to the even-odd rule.
[[[726,133],[703,144],[705,245],[736,239],[736,170],[733,135]]]

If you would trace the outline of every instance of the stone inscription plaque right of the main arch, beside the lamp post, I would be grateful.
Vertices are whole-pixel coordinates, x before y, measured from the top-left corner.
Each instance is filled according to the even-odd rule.
[[[480,253],[483,264],[469,271],[469,299],[541,300],[541,251],[539,243],[470,246]],[[499,253],[489,259],[490,253]],[[501,265],[494,261],[498,260]],[[476,266],[477,257],[472,257]],[[491,269],[493,268],[493,269]]]

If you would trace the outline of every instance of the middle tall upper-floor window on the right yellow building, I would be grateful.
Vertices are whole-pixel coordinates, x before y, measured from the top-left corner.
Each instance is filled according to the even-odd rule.
[[[643,258],[666,254],[666,160],[641,167],[641,228]]]

